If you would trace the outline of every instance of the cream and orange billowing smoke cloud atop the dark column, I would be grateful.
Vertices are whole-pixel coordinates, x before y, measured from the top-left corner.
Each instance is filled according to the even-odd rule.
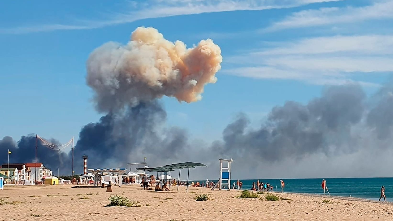
[[[95,91],[97,110],[117,111],[162,96],[187,103],[201,99],[204,85],[215,83],[221,50],[211,39],[187,49],[154,28],[137,28],[127,45],[108,42],[87,61],[87,84]]]

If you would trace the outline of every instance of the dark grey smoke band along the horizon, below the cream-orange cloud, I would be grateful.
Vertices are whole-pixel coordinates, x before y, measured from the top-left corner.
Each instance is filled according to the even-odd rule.
[[[239,114],[224,129],[222,139],[205,147],[203,142],[190,141],[184,129],[165,127],[165,121],[165,110],[154,100],[85,125],[75,145],[75,172],[82,172],[81,156],[88,155],[88,168],[124,167],[143,157],[154,162],[151,166],[195,160],[213,167],[204,171],[204,178],[215,174],[218,158],[233,158],[239,176],[290,176],[306,169],[312,176],[338,170],[342,176],[351,176],[353,171],[359,176],[372,175],[380,171],[380,165],[361,165],[378,157],[381,150],[386,153],[382,157],[390,153],[393,94],[389,85],[371,97],[359,85],[329,87],[307,104],[288,101],[274,107],[257,129],[250,127],[246,114]],[[7,149],[13,151],[11,162],[33,162],[35,136],[22,136],[17,143],[6,136],[0,140],[0,151]],[[70,158],[70,153],[39,144],[39,161],[61,168],[61,173],[70,173]],[[7,155],[0,160],[6,163]]]

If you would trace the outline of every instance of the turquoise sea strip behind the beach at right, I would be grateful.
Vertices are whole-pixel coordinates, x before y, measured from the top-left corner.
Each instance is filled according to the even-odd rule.
[[[393,202],[393,177],[374,178],[313,178],[313,179],[283,179],[284,192],[310,193],[323,195],[321,187],[322,179],[326,180],[326,186],[331,195],[342,197],[357,197],[378,201],[382,185],[385,186],[386,201]],[[242,180],[243,190],[251,189],[252,182],[258,179]],[[193,180],[193,182],[206,182],[206,180]],[[217,182],[217,180],[210,180]],[[192,181],[190,181],[192,182]],[[231,179],[231,188],[237,179]],[[274,191],[281,192],[280,179],[259,179],[259,182],[269,183]],[[326,192],[328,195],[328,193]],[[383,198],[381,199],[383,201]]]

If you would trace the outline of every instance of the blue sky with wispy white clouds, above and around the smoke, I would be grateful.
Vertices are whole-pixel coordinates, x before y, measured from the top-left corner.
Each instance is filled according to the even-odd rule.
[[[0,137],[38,133],[67,142],[101,116],[85,84],[86,59],[108,41],[152,26],[188,46],[221,47],[218,81],[201,101],[163,98],[167,125],[206,141],[244,112],[257,127],[275,105],[306,103],[329,85],[368,94],[393,70],[392,0],[3,1]]]

